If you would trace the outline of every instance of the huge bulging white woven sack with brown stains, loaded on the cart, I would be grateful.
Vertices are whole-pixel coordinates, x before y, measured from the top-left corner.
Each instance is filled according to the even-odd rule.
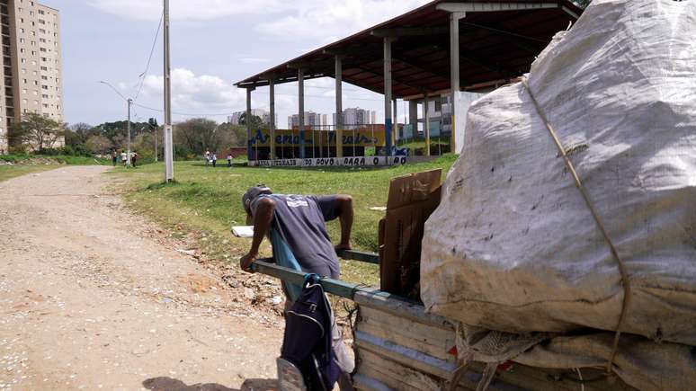
[[[594,0],[529,82],[628,267],[623,331],[696,345],[696,1]],[[617,263],[522,84],[468,111],[421,279],[465,324],[616,328]]]

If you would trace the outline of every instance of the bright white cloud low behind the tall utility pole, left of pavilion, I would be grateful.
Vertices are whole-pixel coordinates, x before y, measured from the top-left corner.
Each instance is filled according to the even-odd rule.
[[[143,84],[145,99],[162,98],[163,91],[163,76],[146,77]],[[197,76],[191,70],[183,68],[175,68],[172,71],[172,111],[174,113],[231,114],[245,107],[245,91],[218,76]]]

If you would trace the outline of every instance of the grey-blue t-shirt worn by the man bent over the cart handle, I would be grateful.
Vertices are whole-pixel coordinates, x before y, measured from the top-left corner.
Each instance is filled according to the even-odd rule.
[[[338,257],[325,224],[338,217],[336,197],[264,194],[252,203],[252,213],[263,198],[275,201],[271,229],[288,244],[302,271],[338,279]]]

